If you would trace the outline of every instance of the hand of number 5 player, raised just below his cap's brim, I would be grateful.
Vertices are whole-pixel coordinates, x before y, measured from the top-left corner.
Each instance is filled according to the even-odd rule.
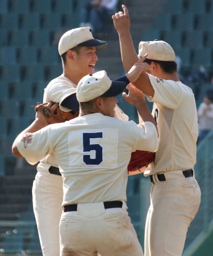
[[[123,98],[128,104],[136,105],[137,103],[145,102],[143,92],[135,87],[133,84],[127,85],[128,95],[123,93]]]

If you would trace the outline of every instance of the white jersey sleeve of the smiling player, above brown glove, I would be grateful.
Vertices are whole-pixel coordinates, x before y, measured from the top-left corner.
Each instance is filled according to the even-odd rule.
[[[76,93],[76,88],[71,84],[68,84],[65,80],[53,80],[48,84],[47,88],[44,89],[43,102],[57,102],[59,103],[59,107],[62,111],[68,112],[72,109],[61,106],[61,102],[73,93]]]

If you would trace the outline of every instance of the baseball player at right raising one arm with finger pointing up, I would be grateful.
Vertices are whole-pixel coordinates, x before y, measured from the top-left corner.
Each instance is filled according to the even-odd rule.
[[[124,12],[112,19],[119,34],[124,69],[128,71],[138,57],[146,58],[144,65],[151,71],[142,73],[133,84],[154,102],[152,114],[159,133],[155,165],[150,164],[144,172],[153,184],[145,225],[145,256],[180,256],[201,200],[193,169],[198,138],[194,94],[179,81],[176,55],[168,43],[140,42],[137,56],[128,10],[122,7]]]

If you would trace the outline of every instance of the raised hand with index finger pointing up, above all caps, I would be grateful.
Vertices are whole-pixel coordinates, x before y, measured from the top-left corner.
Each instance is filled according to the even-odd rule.
[[[123,13],[122,11],[119,11],[118,13],[115,13],[115,15],[112,15],[114,26],[118,34],[130,30],[130,16],[127,7],[122,5],[122,8]]]

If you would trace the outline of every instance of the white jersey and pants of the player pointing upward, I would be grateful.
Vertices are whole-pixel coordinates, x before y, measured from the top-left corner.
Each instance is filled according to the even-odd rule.
[[[156,119],[159,147],[155,164],[144,172],[152,175],[151,207],[145,227],[145,256],[181,255],[187,228],[201,200],[195,176],[183,176],[194,168],[198,138],[197,109],[192,90],[182,82],[149,75],[154,89],[152,115]],[[166,181],[159,181],[164,174]]]

